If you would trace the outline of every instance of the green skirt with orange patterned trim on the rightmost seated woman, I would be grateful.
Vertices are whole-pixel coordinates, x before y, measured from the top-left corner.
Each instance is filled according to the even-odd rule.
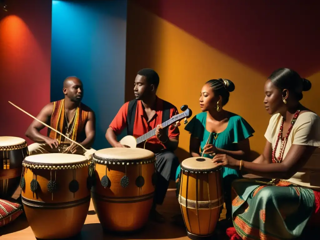
[[[243,239],[299,237],[315,211],[312,189],[284,180],[232,183],[233,225]]]

